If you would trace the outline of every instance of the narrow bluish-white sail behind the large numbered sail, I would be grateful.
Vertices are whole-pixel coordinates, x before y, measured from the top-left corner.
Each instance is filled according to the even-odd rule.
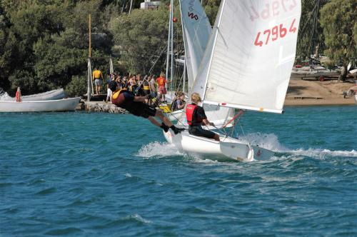
[[[180,9],[188,74],[188,91],[191,91],[212,29],[200,1],[181,0]]]

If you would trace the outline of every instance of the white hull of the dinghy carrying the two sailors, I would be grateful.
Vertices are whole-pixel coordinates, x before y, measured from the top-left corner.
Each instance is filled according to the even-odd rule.
[[[273,151],[250,146],[237,138],[221,137],[221,141],[193,136],[188,131],[175,135],[171,130],[164,132],[166,141],[173,143],[180,151],[217,161],[265,161],[274,155]]]

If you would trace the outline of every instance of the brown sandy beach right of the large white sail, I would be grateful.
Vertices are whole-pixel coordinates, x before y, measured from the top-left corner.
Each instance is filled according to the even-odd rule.
[[[356,104],[353,96],[343,98],[355,83],[352,81],[305,81],[291,79],[286,94],[285,106],[348,105]]]

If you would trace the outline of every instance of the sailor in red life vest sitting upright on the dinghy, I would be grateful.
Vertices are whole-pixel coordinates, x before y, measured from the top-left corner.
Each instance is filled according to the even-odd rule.
[[[188,133],[219,141],[219,135],[217,133],[213,133],[213,131],[208,131],[202,128],[202,123],[206,126],[214,126],[214,124],[208,121],[203,107],[198,106],[198,103],[201,102],[199,94],[196,92],[191,94],[191,101],[192,104],[188,104],[186,106],[186,119],[189,125]]]

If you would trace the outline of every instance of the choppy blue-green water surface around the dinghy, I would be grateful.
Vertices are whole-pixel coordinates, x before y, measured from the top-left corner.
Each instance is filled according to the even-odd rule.
[[[239,136],[276,151],[252,162],[181,153],[131,115],[0,124],[0,236],[357,236],[357,106],[246,112]]]

